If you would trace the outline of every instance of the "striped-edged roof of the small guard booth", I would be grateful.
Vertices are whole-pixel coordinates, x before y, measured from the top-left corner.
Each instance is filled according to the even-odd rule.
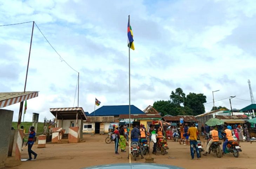
[[[56,117],[58,120],[73,120],[76,119],[76,113],[79,113],[78,119],[86,120],[87,117],[85,115],[85,111],[83,111],[82,107],[69,107],[69,108],[50,108],[50,112]]]

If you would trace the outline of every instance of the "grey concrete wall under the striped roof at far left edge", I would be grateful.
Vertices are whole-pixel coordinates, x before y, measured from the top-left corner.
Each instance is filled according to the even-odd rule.
[[[13,111],[0,109],[0,124],[1,124],[1,137],[0,137],[0,168],[5,167],[7,160],[10,142],[10,131],[12,128]]]

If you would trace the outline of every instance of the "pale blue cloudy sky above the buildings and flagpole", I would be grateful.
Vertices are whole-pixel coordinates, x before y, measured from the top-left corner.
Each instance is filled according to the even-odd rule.
[[[61,57],[80,74],[79,107],[131,104],[143,110],[168,100],[180,87],[207,96],[215,106],[241,109],[256,91],[256,1],[253,0],[0,0],[0,25],[35,21]],[[24,90],[32,22],[0,27],[0,92]],[[25,121],[32,113],[53,119],[49,108],[77,106],[78,73],[68,67],[34,27]],[[75,98],[76,94],[76,98]],[[254,93],[255,94],[255,93]],[[221,100],[224,99],[224,100]],[[244,100],[239,100],[244,99]],[[221,101],[217,101],[221,100]],[[247,101],[245,101],[247,100]],[[96,109],[99,108],[96,106]],[[18,121],[19,104],[13,110]]]

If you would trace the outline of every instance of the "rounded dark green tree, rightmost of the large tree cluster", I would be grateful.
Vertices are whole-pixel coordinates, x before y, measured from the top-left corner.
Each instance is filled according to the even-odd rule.
[[[198,115],[205,113],[204,104],[206,103],[206,96],[202,93],[189,93],[184,101],[184,106],[189,107],[192,111],[192,115]]]

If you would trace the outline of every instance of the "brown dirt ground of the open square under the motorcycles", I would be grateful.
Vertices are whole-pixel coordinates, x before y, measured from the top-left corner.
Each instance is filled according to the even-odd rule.
[[[114,143],[105,143],[106,135],[84,135],[85,142],[77,144],[47,144],[46,148],[38,149],[35,145],[32,150],[38,153],[37,160],[24,161],[21,165],[13,169],[27,168],[83,168],[92,165],[127,163],[128,153],[115,155]],[[202,143],[203,144],[203,143]],[[242,152],[238,158],[232,154],[227,154],[222,158],[210,154],[208,157],[202,157],[201,160],[190,160],[189,146],[180,145],[178,142],[168,140],[167,155],[159,155],[155,158],[155,163],[176,165],[186,169],[255,169],[256,168],[256,143],[241,143]],[[206,148],[206,143],[203,144]],[[27,147],[23,147],[22,158],[28,158]],[[127,147],[128,151],[128,147]],[[132,162],[145,162],[144,159],[138,159]]]

